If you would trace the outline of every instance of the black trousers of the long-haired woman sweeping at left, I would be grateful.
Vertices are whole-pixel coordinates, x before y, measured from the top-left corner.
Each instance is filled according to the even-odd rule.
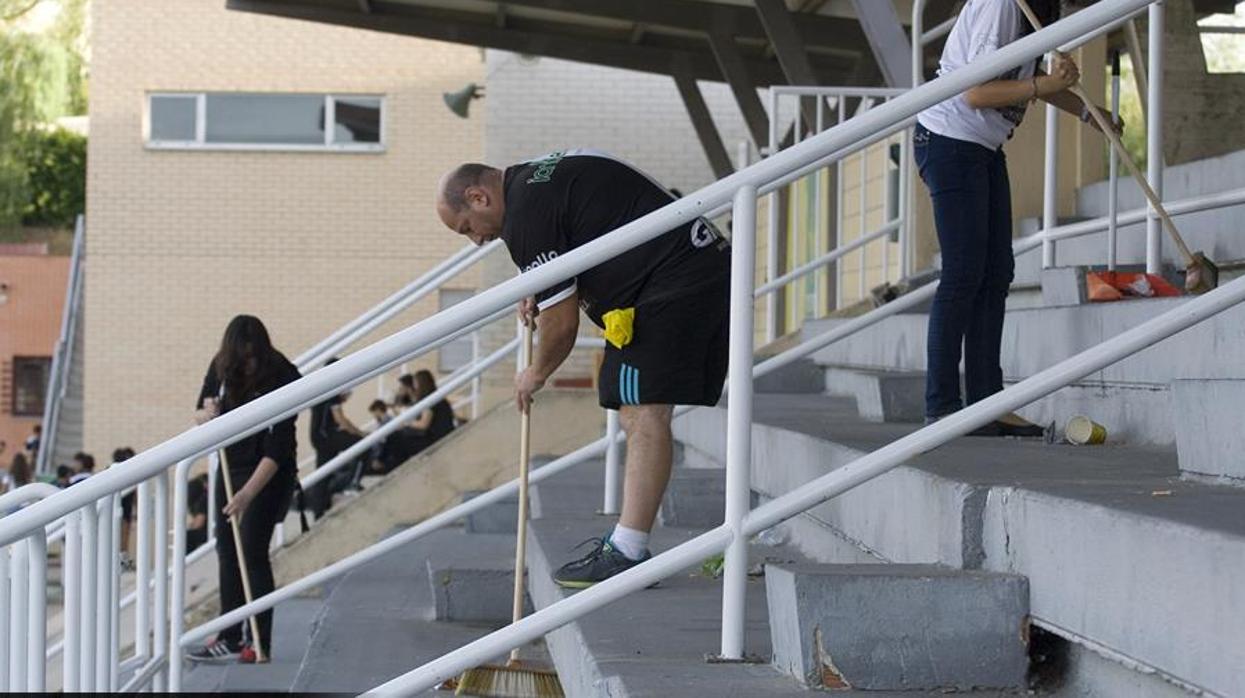
[[[240,489],[250,477],[249,472],[232,472],[234,491]],[[276,474],[268,485],[259,491],[259,495],[250,503],[239,521],[242,533],[242,550],[247,559],[247,569],[250,572],[250,591],[254,598],[259,598],[275,589],[273,581],[273,561],[268,557],[268,547],[273,540],[273,529],[285,518],[290,508],[290,495],[293,484],[284,474]],[[224,478],[217,478],[217,501],[220,508],[225,504]],[[217,511],[217,562],[220,567],[220,612],[228,613],[247,603],[242,586],[242,571],[238,569],[238,554],[234,549],[233,530],[229,519],[222,511]],[[264,652],[271,648],[273,640],[273,611],[264,611],[259,615],[259,642]],[[230,644],[238,644],[243,638],[243,626],[245,621],[220,631],[218,640],[225,640]],[[248,628],[249,632],[249,628]],[[253,638],[254,640],[254,638]]]

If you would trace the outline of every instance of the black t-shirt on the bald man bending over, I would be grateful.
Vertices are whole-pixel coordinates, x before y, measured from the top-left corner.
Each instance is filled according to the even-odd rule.
[[[502,239],[522,271],[675,200],[639,169],[585,149],[507,168],[504,190]],[[542,291],[537,302],[547,309],[578,291],[580,307],[604,327],[601,316],[610,310],[687,294],[730,271],[730,245],[697,219]]]

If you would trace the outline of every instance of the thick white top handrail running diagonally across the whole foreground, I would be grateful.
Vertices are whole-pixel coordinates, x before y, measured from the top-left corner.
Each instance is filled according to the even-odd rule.
[[[1084,10],[1069,20],[1048,27],[1043,32],[1037,32],[1000,50],[990,56],[990,60],[979,61],[961,71],[956,71],[955,75],[931,82],[923,90],[896,97],[889,103],[862,114],[859,118],[854,118],[840,127],[815,136],[782,153],[777,153],[756,165],[742,169],[731,177],[632,221],[610,235],[568,253],[530,272],[523,274],[518,279],[479,294],[456,306],[451,312],[437,314],[332,366],[316,371],[311,376],[225,413],[207,424],[189,429],[163,444],[136,455],[127,463],[127,468],[101,473],[71,490],[61,491],[46,500],[32,504],[12,516],[0,520],[0,544],[24,537],[24,535],[34,533],[36,528],[41,530],[41,526],[51,520],[75,511],[82,505],[100,498],[107,498],[126,486],[151,478],[167,468],[172,462],[198,457],[202,453],[214,450],[232,440],[264,428],[269,423],[285,418],[308,404],[319,402],[326,394],[335,394],[350,386],[366,381],[406,361],[411,355],[426,351],[431,346],[444,341],[447,336],[459,333],[464,328],[468,328],[473,321],[478,321],[491,312],[508,309],[522,297],[595,266],[671,228],[706,214],[715,207],[727,203],[743,187],[764,188],[766,184],[773,180],[812,165],[838,149],[847,148],[852,143],[868,138],[879,128],[893,126],[934,102],[942,101],[971,85],[997,75],[1010,67],[1010,65],[1016,65],[1028,56],[1048,49],[1050,46],[1046,42],[1051,42],[1051,46],[1057,45],[1059,41],[1056,40],[1061,36],[1066,41],[1074,36],[1072,26],[1076,24],[1083,25],[1094,19],[1102,20],[1109,17],[1111,12],[1119,12],[1143,5],[1144,0],[1108,0],[1096,7]],[[1081,22],[1076,20],[1081,20]],[[157,482],[166,480],[159,478]],[[105,506],[108,504],[106,499]],[[87,516],[86,519],[90,520],[91,518]],[[174,528],[174,530],[181,529],[182,526]],[[740,530],[738,525],[735,526],[735,530]],[[182,531],[182,535],[184,544],[184,531]],[[730,534],[727,534],[727,537],[730,537]],[[159,587],[157,586],[157,589]],[[157,608],[159,608],[158,603]],[[176,666],[174,663],[173,667]]]

